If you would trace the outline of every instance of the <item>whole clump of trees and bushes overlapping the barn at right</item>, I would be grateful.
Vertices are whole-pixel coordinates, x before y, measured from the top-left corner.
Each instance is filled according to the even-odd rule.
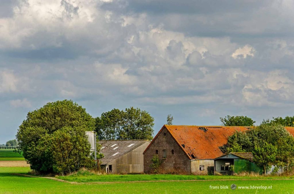
[[[270,163],[287,170],[294,165],[294,137],[280,124],[263,123],[236,132],[228,138],[227,146],[227,152],[253,152],[255,163],[265,171]]]

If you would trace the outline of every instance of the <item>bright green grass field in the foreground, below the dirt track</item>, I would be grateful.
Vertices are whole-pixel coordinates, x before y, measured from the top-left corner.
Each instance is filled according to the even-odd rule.
[[[70,184],[40,177],[25,177],[13,173],[26,173],[28,167],[0,167],[0,193],[294,193],[293,180],[233,180],[233,181],[179,181],[179,182],[136,182],[136,183],[82,183]],[[104,175],[108,176],[108,175]],[[110,175],[112,176],[112,175]],[[122,180],[129,176],[118,175]],[[146,176],[146,175],[141,175]],[[155,175],[157,176],[157,175]],[[158,179],[163,176],[159,175]],[[230,185],[236,184],[236,190]],[[217,188],[212,188],[219,187]],[[228,186],[221,189],[220,186]],[[238,186],[272,186],[271,189],[245,189]]]

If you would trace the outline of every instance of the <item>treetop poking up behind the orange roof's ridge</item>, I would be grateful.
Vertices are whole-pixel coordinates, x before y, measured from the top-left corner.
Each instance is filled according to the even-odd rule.
[[[226,116],[220,117],[223,126],[253,126],[255,121],[247,116]]]

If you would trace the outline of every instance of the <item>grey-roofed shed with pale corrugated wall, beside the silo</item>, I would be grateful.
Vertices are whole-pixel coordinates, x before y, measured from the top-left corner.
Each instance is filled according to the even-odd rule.
[[[99,159],[101,168],[107,173],[143,173],[143,152],[150,144],[148,140],[101,140]]]

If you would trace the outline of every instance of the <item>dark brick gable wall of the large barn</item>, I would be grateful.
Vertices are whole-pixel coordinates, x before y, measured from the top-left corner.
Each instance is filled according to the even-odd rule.
[[[166,135],[164,135],[164,133],[166,133]],[[163,169],[177,169],[185,171],[186,173],[191,173],[190,159],[166,129],[163,129],[161,133],[158,134],[155,141],[144,154],[145,173],[152,172],[150,164],[152,157],[156,155],[156,150],[158,150],[158,157],[161,159],[161,167]],[[166,159],[162,157],[163,150],[166,150]],[[174,150],[174,154],[172,154],[172,150]]]

